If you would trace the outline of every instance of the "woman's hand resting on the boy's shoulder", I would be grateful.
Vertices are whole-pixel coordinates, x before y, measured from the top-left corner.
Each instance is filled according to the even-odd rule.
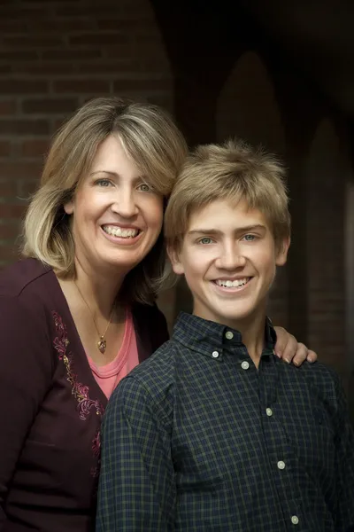
[[[291,362],[296,366],[307,362],[316,362],[317,354],[307,348],[303,343],[298,342],[293,334],[290,334],[283,327],[274,327],[277,342],[274,347],[275,355],[282,358],[285,362]]]

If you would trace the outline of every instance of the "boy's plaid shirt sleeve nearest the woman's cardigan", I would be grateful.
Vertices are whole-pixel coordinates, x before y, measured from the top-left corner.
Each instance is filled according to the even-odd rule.
[[[171,434],[134,377],[123,379],[104,415],[96,532],[173,531]]]

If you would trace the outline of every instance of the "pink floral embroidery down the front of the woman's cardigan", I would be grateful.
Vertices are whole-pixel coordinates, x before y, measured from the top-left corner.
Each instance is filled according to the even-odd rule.
[[[82,419],[82,421],[88,419],[89,412],[92,409],[96,410],[97,416],[102,417],[104,413],[103,405],[97,399],[94,400],[89,398],[89,387],[81,384],[77,379],[76,373],[73,371],[73,354],[68,351],[68,345],[70,342],[67,338],[66,325],[58,312],[53,311],[52,316],[58,334],[53,340],[53,345],[58,352],[58,359],[63,361],[63,364],[65,365],[66,379],[72,385],[72,394],[78,402],[77,409],[79,412],[79,418]],[[91,475],[96,477],[99,474],[101,450],[101,431],[99,429],[94,436],[91,449],[95,458],[98,459],[97,466],[91,469]]]

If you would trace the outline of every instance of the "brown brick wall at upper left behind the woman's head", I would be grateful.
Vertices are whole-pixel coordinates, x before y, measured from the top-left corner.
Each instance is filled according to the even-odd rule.
[[[117,93],[172,110],[173,81],[148,0],[0,3],[0,267],[50,136],[76,107]]]

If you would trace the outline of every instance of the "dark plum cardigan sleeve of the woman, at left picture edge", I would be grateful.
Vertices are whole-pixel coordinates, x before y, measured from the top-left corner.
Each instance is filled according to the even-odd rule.
[[[18,298],[0,297],[0,531],[21,530],[4,501],[27,434],[50,387],[52,365],[45,323]],[[40,318],[39,318],[40,320]]]

